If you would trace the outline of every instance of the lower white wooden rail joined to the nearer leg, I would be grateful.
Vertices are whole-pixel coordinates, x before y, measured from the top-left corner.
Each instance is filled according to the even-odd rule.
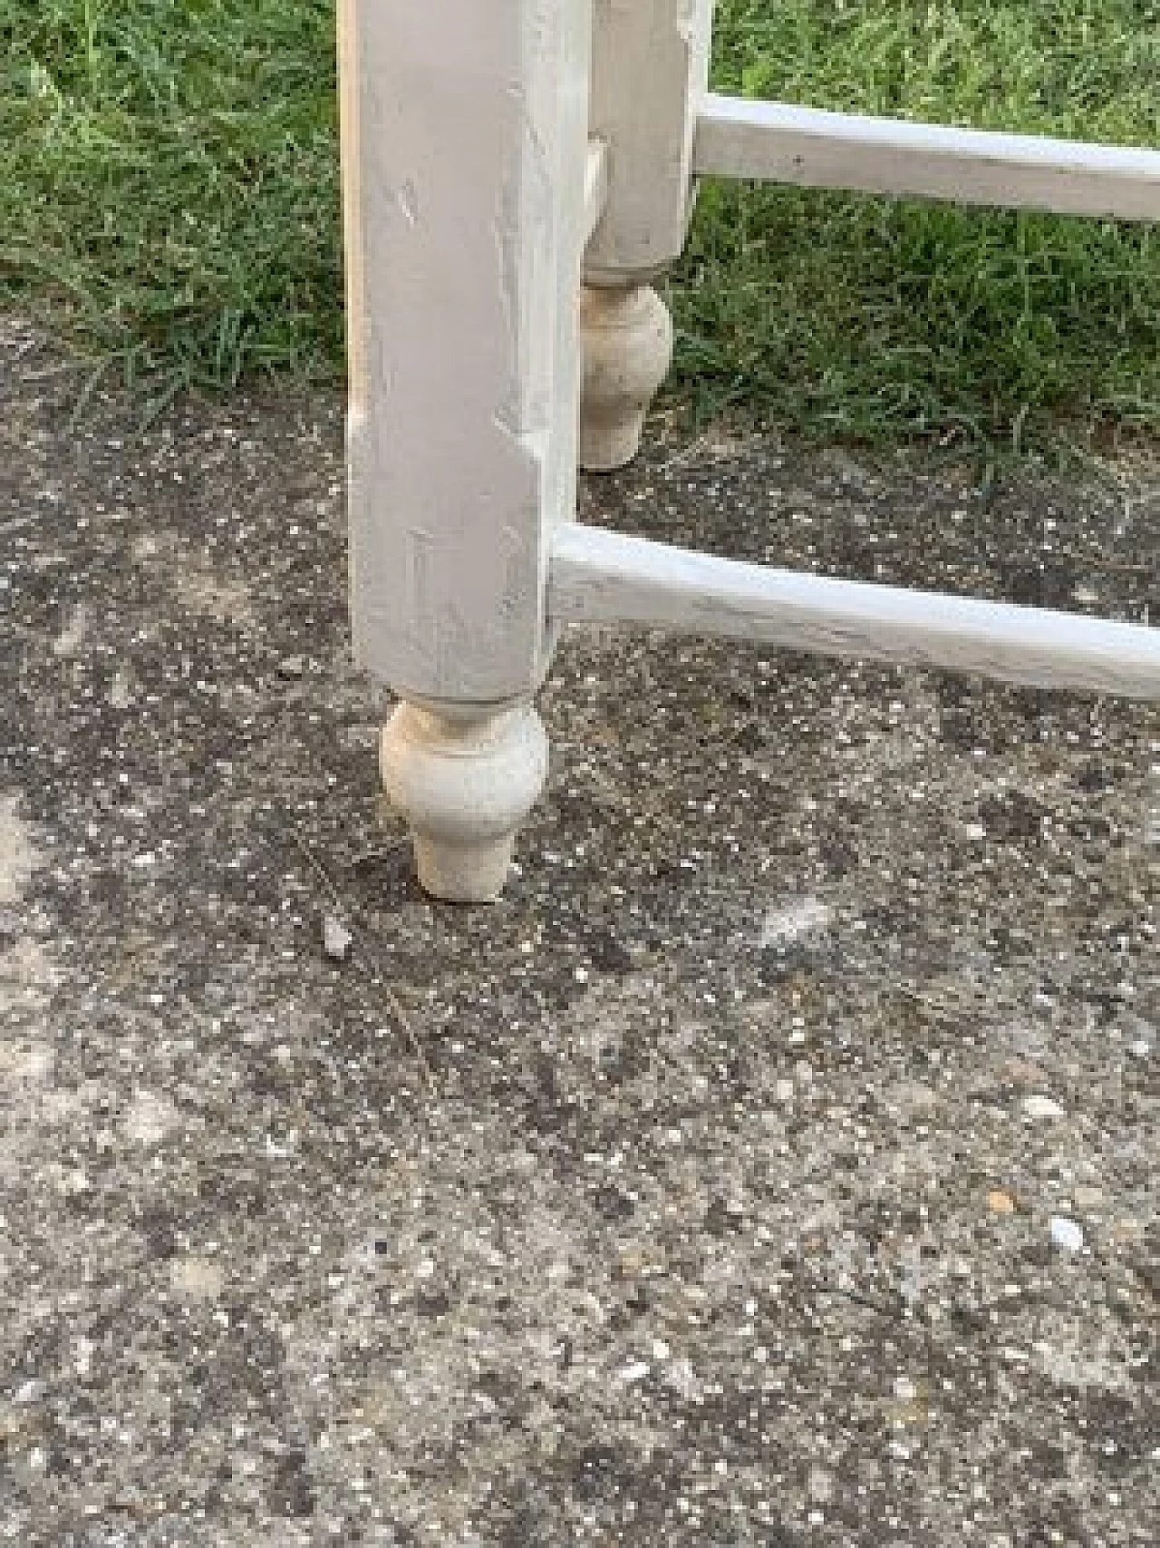
[[[575,523],[552,536],[548,605],[557,624],[725,635],[1160,700],[1160,628],[769,570]]]

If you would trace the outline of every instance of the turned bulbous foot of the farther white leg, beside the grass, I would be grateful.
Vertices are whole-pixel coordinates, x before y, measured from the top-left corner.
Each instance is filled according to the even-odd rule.
[[[650,285],[585,286],[580,466],[612,472],[640,450],[645,415],[673,364],[673,319]]]

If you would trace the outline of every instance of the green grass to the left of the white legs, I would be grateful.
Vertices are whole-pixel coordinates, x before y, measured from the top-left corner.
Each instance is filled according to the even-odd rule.
[[[343,350],[333,0],[0,0],[0,296],[167,392]]]

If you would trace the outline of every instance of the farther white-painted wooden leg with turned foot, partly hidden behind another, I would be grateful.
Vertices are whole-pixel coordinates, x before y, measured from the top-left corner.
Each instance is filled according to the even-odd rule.
[[[580,466],[623,467],[673,359],[653,282],[681,257],[693,135],[708,85],[713,0],[595,0],[592,135],[608,197],[585,252]]]

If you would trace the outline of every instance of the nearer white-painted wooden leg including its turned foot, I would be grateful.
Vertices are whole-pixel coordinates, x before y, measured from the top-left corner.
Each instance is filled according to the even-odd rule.
[[[340,0],[351,622],[419,878],[495,898],[575,515],[591,0]]]

